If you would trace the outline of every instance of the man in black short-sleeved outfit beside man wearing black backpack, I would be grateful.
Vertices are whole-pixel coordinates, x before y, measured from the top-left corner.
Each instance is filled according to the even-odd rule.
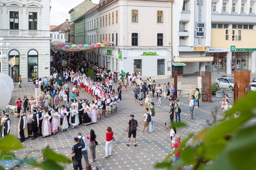
[[[82,166],[82,144],[78,143],[78,137],[74,137],[75,145],[72,148],[71,159],[73,161],[74,170],[83,170]]]

